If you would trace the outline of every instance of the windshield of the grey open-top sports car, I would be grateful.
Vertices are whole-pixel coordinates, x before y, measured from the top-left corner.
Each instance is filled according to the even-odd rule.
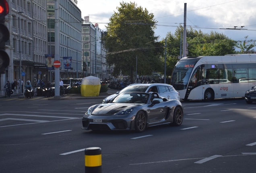
[[[111,103],[147,103],[148,93],[126,92],[118,95]]]

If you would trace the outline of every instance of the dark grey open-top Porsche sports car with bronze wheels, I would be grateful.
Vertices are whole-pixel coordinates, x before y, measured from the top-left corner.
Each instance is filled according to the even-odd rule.
[[[82,129],[143,132],[154,125],[180,126],[182,121],[180,101],[159,97],[158,93],[125,92],[109,103],[89,107],[83,116]]]

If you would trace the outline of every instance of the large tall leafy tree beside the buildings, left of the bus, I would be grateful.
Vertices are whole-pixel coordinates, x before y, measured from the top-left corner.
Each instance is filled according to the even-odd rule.
[[[151,74],[162,65],[163,44],[155,42],[154,15],[135,2],[120,2],[117,12],[110,17],[107,34],[103,40],[107,50],[106,60],[114,65],[114,74],[130,75],[136,70],[140,75]]]

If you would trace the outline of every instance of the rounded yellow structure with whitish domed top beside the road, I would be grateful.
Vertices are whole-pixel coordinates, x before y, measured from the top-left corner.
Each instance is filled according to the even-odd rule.
[[[81,95],[83,97],[99,96],[101,81],[94,76],[88,76],[82,79]]]

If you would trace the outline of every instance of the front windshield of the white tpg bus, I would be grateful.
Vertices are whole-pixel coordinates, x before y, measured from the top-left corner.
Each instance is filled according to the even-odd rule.
[[[183,90],[187,88],[191,72],[197,61],[179,61],[171,76],[171,85],[176,90]]]

